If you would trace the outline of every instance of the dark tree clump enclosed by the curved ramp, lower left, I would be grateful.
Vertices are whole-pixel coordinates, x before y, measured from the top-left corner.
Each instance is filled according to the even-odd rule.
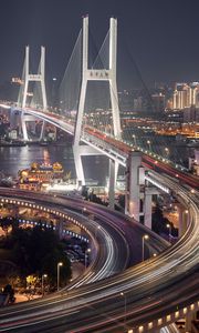
[[[27,275],[48,274],[49,282],[56,284],[57,263],[60,269],[61,285],[71,278],[71,264],[67,260],[63,245],[55,232],[43,226],[33,229],[14,229],[4,243],[12,253],[12,262],[19,268],[21,278]]]

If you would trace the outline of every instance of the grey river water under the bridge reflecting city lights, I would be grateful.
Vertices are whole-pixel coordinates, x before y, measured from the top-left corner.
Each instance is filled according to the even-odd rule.
[[[0,171],[7,175],[15,178],[19,170],[30,168],[32,162],[60,162],[65,172],[71,171],[71,178],[76,176],[71,145],[0,147]],[[108,160],[106,157],[83,158],[83,165],[86,179],[97,180],[98,184],[105,184],[108,174]]]

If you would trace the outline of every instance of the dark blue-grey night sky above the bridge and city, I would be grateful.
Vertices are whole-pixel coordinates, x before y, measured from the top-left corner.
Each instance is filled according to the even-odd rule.
[[[0,83],[21,75],[25,44],[34,60],[45,46],[49,75],[61,78],[86,13],[96,43],[118,18],[118,40],[148,84],[199,80],[198,0],[0,0]]]

